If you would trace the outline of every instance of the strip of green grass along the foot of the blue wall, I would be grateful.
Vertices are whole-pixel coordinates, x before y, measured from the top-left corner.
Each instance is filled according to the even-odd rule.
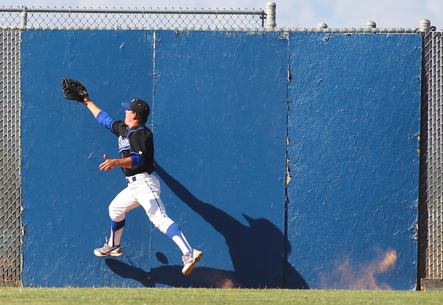
[[[0,288],[0,304],[443,304],[443,292],[206,288]]]

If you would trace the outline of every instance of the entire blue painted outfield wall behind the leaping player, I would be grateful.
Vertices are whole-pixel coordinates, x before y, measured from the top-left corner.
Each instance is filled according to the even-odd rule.
[[[419,35],[23,31],[24,285],[352,288],[345,270],[376,270],[379,288],[414,289],[420,47]],[[132,98],[152,107],[161,197],[204,251],[191,275],[141,207],[125,255],[93,255],[126,183],[98,171],[117,139],[63,98],[62,78],[116,119]]]

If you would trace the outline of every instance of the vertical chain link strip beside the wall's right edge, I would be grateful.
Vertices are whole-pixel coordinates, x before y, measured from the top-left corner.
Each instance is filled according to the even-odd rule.
[[[423,37],[420,132],[419,279],[443,279],[443,33]]]

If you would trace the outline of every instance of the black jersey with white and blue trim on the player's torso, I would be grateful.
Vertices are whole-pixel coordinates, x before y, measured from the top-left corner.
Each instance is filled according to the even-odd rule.
[[[126,176],[145,172],[154,173],[154,140],[149,128],[143,124],[129,128],[124,121],[114,120],[110,130],[118,136],[118,153],[121,159],[127,157],[141,157],[143,159],[143,163],[139,166],[122,167]]]

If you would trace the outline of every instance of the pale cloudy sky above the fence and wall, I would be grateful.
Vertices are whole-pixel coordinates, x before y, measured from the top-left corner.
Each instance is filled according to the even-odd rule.
[[[378,28],[416,28],[426,18],[443,29],[443,0],[275,0],[278,27],[364,28],[374,21]],[[161,4],[160,4],[161,3]],[[0,6],[44,8],[266,8],[266,0],[0,0]]]

